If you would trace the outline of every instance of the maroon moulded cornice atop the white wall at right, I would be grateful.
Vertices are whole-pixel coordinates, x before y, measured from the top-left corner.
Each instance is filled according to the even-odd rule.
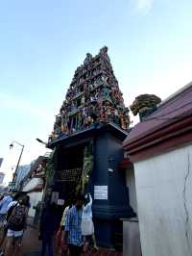
[[[128,141],[124,146],[129,152],[132,162],[139,161],[150,156],[168,151],[185,143],[192,142],[192,111],[180,116],[180,119],[167,122],[167,126],[161,127],[153,133],[138,139]]]

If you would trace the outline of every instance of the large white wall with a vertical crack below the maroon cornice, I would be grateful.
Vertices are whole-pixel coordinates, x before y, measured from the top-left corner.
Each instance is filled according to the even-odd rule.
[[[143,256],[192,256],[192,145],[134,164]]]

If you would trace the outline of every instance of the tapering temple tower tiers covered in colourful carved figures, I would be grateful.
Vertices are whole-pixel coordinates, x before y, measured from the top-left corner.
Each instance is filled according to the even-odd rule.
[[[112,122],[124,130],[130,125],[129,109],[114,76],[108,47],[103,47],[95,57],[87,53],[84,64],[75,71],[49,141],[83,131],[98,122]]]

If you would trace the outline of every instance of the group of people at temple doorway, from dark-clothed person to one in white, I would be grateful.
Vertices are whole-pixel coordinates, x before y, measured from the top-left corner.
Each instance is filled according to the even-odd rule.
[[[41,256],[54,255],[53,238],[57,232],[60,256],[80,256],[83,251],[87,251],[90,243],[98,250],[92,221],[92,197],[89,193],[85,196],[79,194],[74,202],[69,202],[61,221],[57,215],[56,204],[52,203],[45,209],[39,229],[39,239],[42,241]]]

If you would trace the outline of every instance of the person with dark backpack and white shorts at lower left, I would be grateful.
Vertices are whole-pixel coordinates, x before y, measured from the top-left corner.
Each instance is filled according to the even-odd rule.
[[[28,198],[21,196],[8,212],[8,232],[5,256],[19,255],[20,243],[27,226]]]

